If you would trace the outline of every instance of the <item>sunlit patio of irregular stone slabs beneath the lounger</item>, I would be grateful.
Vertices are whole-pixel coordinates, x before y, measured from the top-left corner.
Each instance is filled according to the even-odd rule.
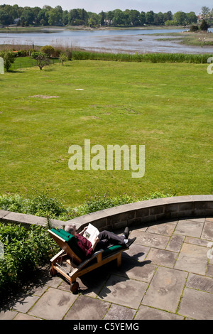
[[[72,294],[45,268],[0,302],[0,320],[213,320],[213,219],[137,225],[130,237],[119,269],[112,262],[85,274]]]

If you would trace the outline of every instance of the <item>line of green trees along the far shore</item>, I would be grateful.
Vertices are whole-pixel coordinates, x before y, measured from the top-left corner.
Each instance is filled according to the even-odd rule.
[[[0,5],[0,24],[7,26],[16,21],[18,26],[168,26],[197,23],[195,12],[184,13],[171,11],[154,13],[153,11],[137,11],[133,9],[115,9],[102,11],[99,14],[84,9],[62,10],[61,6],[52,8],[43,6],[21,7],[16,5]]]

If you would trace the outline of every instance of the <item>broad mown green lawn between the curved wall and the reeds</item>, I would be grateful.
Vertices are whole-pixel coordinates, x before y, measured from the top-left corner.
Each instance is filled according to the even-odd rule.
[[[207,64],[74,60],[7,72],[0,89],[0,193],[27,198],[48,188],[69,205],[107,187],[111,196],[212,193]],[[106,151],[109,144],[145,145],[145,176],[70,171],[68,149],[84,139]]]

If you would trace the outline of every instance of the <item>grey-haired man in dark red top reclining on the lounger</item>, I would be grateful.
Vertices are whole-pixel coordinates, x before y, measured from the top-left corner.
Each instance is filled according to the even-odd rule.
[[[115,244],[129,247],[136,240],[136,237],[134,237],[133,239],[128,239],[129,228],[126,227],[124,230],[124,234],[121,235],[121,237],[109,231],[102,231],[94,239],[94,244],[92,244],[87,238],[83,237],[85,230],[87,230],[87,227],[84,227],[84,230],[82,230],[82,232],[77,233],[76,226],[74,224],[65,226],[65,231],[69,232],[71,235],[74,235],[74,237],[77,238],[78,246],[82,249],[87,257],[90,257],[94,252],[97,252],[99,249],[106,249],[107,247],[114,246]]]

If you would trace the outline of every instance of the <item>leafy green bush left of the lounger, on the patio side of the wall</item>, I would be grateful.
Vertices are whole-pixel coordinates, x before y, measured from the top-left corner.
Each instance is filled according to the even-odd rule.
[[[0,223],[0,242],[4,245],[4,257],[0,259],[0,293],[21,284],[33,269],[45,264],[58,246],[44,227]]]

